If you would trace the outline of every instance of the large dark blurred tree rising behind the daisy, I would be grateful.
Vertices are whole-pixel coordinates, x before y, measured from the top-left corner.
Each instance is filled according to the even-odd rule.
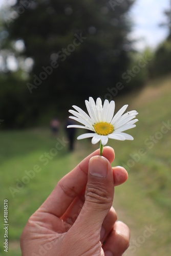
[[[15,122],[9,118],[8,125],[34,124],[47,113],[62,117],[72,104],[83,106],[89,96],[103,98],[115,87],[130,61],[127,13],[133,2],[17,1],[11,9],[17,17],[6,22],[8,41],[22,39],[22,55],[32,57],[34,65],[29,80],[20,81],[23,99],[11,90],[10,98],[21,105],[12,103]]]

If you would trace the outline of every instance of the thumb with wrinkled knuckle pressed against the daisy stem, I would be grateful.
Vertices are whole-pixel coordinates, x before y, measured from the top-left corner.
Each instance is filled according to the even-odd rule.
[[[114,197],[114,178],[110,162],[102,156],[94,156],[89,162],[85,202],[78,217],[80,232],[100,233]],[[86,228],[83,227],[86,225]],[[95,232],[96,231],[96,232]]]

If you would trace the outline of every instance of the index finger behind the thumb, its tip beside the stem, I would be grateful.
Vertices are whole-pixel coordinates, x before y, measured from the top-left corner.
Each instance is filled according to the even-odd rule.
[[[65,214],[72,201],[86,187],[89,160],[96,155],[99,155],[99,150],[86,157],[69,174],[64,176],[57,183],[47,200],[40,206],[39,210],[53,214],[58,218]],[[113,148],[104,147],[103,156],[112,163],[115,157]],[[63,163],[63,167],[65,167],[65,163]]]

